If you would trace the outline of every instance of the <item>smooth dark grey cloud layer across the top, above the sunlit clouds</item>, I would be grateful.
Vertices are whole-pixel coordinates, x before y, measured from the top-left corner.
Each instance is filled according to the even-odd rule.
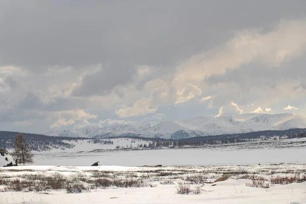
[[[0,8],[1,64],[164,66],[224,42],[235,30],[304,15],[305,6],[304,1],[10,1]]]

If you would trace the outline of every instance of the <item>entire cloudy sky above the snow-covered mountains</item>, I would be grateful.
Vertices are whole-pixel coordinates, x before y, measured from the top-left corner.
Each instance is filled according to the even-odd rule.
[[[0,130],[306,116],[306,1],[1,1]]]

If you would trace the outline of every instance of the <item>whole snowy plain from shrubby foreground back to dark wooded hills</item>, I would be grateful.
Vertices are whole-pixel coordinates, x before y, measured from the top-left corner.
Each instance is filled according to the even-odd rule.
[[[0,168],[0,203],[305,203],[306,182],[269,188],[249,187],[253,178],[306,176],[306,139],[253,141],[206,145],[199,148],[129,150],[116,146],[149,141],[111,139],[113,144],[78,142],[73,149],[34,152],[34,164]],[[141,149],[141,148],[138,148]],[[99,161],[101,166],[90,166]],[[260,165],[259,165],[260,163]],[[147,165],[147,166],[144,166]],[[162,167],[154,167],[162,165]],[[217,183],[228,175],[230,179]],[[86,188],[82,193],[59,190],[6,189],[6,179],[44,182],[44,176],[64,176],[67,181],[142,181],[135,187]],[[32,178],[32,179],[31,179]],[[34,179],[33,179],[34,178]],[[39,179],[40,178],[40,179]],[[92,182],[93,181],[93,182]],[[62,182],[66,185],[66,180]],[[179,186],[200,188],[200,193],[178,194]],[[87,184],[86,184],[87,185]],[[32,189],[33,190],[33,189]]]

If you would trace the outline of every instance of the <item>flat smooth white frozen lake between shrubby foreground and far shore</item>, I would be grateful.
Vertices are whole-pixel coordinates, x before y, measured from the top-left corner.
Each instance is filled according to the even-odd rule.
[[[104,152],[38,152],[33,165],[88,166],[103,165],[212,165],[306,162],[306,148],[220,150],[159,149],[118,150]]]

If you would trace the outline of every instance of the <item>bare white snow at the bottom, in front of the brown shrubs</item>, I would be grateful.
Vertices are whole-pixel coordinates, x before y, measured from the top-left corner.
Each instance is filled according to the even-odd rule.
[[[204,186],[200,194],[176,194],[176,185],[159,185],[156,188],[128,188],[97,190],[82,194],[63,191],[38,194],[35,192],[4,192],[1,203],[277,203],[302,204],[306,202],[306,184],[289,184],[269,189],[245,186],[248,180],[228,180],[217,186]]]

